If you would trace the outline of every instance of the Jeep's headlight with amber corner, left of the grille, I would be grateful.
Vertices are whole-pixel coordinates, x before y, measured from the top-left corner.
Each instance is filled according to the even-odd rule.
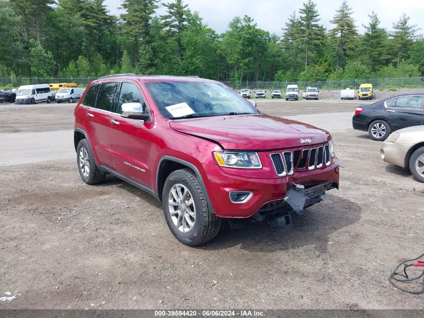
[[[224,151],[214,152],[214,156],[221,167],[241,169],[262,168],[262,164],[256,152]]]

